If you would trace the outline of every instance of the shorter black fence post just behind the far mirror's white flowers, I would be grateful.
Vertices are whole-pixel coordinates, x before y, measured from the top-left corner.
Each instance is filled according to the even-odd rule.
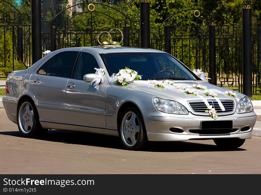
[[[209,25],[209,83],[217,85],[216,76],[216,28],[215,23]]]

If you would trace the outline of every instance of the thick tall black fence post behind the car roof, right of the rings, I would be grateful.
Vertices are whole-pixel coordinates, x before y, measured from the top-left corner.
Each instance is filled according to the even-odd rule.
[[[141,47],[150,48],[149,3],[140,3]]]

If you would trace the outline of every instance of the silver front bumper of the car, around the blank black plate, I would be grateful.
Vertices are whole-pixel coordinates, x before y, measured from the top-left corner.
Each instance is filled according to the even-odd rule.
[[[250,139],[257,116],[254,112],[219,116],[217,121],[233,121],[233,132],[217,134],[192,133],[200,130],[201,121],[214,121],[209,116],[167,114],[160,111],[142,112],[149,141],[185,141],[190,139],[238,138]],[[245,131],[241,131],[242,128]],[[182,133],[172,132],[170,128],[182,129]],[[247,130],[246,130],[247,129]],[[243,129],[242,129],[243,130]]]

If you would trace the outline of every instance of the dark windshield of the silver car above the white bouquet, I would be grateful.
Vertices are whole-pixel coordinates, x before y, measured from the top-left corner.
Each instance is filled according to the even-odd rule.
[[[128,67],[142,75],[142,80],[197,80],[185,66],[167,53],[106,53],[101,57],[109,74]]]

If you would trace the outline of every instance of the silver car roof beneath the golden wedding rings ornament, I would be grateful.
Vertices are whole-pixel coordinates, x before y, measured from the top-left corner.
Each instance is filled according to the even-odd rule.
[[[63,48],[61,50],[64,51],[74,51],[77,48],[77,51],[80,50],[83,52],[88,51],[96,51],[97,53],[125,53],[125,52],[140,52],[140,53],[165,53],[164,51],[155,50],[155,49],[149,49],[149,48],[139,48],[139,47],[103,47],[103,46],[97,46],[97,47],[70,47],[70,48]]]

